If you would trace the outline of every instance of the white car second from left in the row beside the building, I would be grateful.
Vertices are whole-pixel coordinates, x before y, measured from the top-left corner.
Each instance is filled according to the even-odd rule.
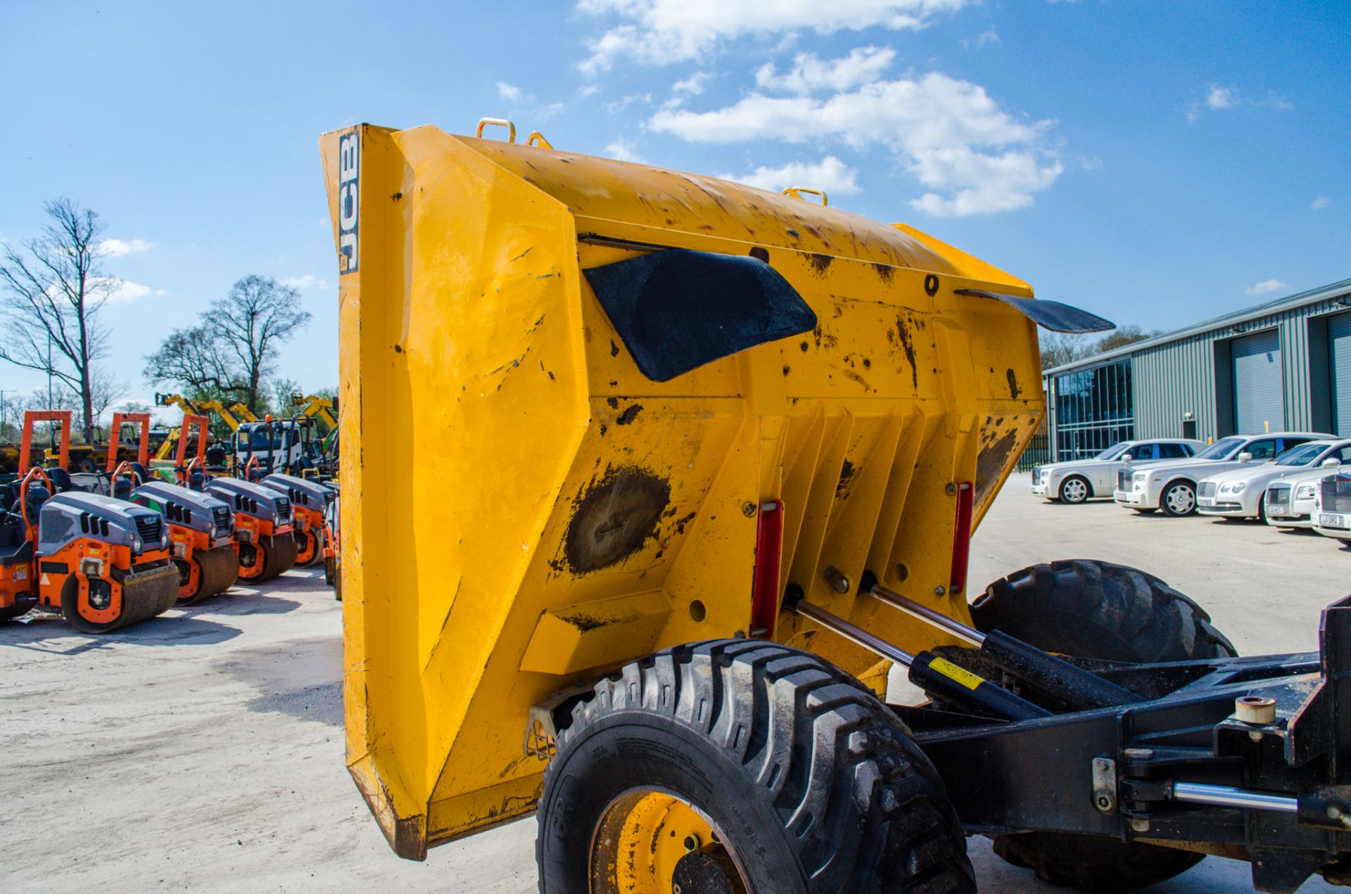
[[[1189,516],[1196,512],[1196,482],[1201,478],[1239,469],[1246,463],[1274,459],[1277,454],[1305,442],[1335,439],[1336,435],[1324,432],[1229,435],[1190,459],[1170,459],[1143,469],[1128,465],[1117,473],[1112,498],[1117,505],[1136,512],[1163,509],[1170,516]]]

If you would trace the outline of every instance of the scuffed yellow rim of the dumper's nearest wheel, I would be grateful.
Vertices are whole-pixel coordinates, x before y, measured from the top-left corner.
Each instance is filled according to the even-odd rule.
[[[732,889],[748,893],[735,855],[709,820],[666,791],[628,791],[611,802],[592,839],[593,894],[676,894],[676,866],[700,848],[725,849]],[[682,891],[681,894],[696,894]]]

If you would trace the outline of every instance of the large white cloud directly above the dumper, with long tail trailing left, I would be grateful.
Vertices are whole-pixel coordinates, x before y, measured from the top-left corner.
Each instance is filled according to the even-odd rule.
[[[1063,173],[1040,146],[1052,122],[1025,123],[998,107],[982,86],[942,73],[875,81],[828,99],[750,93],[711,112],[659,111],[654,131],[697,143],[781,139],[839,140],[855,149],[882,144],[929,192],[911,205],[940,216],[1013,211]]]

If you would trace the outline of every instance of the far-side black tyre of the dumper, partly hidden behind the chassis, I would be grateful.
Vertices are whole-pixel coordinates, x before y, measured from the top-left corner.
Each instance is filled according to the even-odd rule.
[[[1051,652],[1119,662],[1236,655],[1210,616],[1151,574],[1106,562],[1035,564],[996,581],[971,604],[981,631],[1002,631]],[[1124,891],[1188,871],[1201,853],[1117,839],[1025,832],[994,852],[1054,885]]]

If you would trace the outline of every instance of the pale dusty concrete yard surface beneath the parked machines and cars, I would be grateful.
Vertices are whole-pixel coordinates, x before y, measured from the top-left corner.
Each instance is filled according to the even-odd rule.
[[[1025,475],[981,527],[971,581],[1067,558],[1162,577],[1244,654],[1316,648],[1320,609],[1351,589],[1351,550],[1319,535],[1048,504]],[[320,571],[103,637],[51,614],[0,627],[0,890],[536,890],[534,818],[393,855],[343,766],[340,677]],[[982,890],[1065,890],[985,839],[969,852]],[[1248,867],[1209,858],[1152,890],[1250,890]]]

